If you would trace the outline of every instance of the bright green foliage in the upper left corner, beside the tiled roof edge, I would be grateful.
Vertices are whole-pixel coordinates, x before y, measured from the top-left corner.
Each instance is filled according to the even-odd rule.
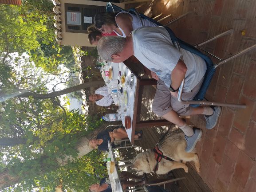
[[[55,41],[52,7],[45,0],[24,0],[22,6],[0,4],[0,56],[27,52],[30,61],[44,71],[57,73],[60,64],[72,69],[71,47],[60,47]]]

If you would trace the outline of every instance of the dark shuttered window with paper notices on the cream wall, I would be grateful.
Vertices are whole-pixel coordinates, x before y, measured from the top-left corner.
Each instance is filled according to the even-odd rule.
[[[87,27],[93,24],[95,14],[105,11],[104,6],[65,4],[66,32],[87,33]]]

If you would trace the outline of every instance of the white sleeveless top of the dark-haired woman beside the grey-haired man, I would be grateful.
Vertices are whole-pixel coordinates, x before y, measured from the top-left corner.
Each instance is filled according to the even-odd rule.
[[[133,20],[132,20],[132,27],[133,27],[133,30],[135,29],[138,29],[139,27],[142,27],[141,26],[141,23],[140,23],[140,19],[138,18],[138,16],[134,15],[134,14],[131,14],[129,12],[119,12],[118,14],[120,13],[126,13],[126,14],[129,14],[130,16],[132,16]],[[117,17],[118,14],[115,16]],[[149,20],[146,20],[146,19],[143,19],[142,18],[142,24],[143,24],[143,27],[158,27],[157,24],[149,21]],[[118,24],[117,24],[118,26]],[[124,31],[118,26],[118,28],[120,29],[120,31],[122,32],[122,35],[118,34],[117,31],[114,31],[119,37],[126,37]]]

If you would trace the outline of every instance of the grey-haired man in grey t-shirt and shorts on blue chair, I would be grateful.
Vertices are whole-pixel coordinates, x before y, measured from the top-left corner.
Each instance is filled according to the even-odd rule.
[[[198,55],[184,49],[181,51],[184,62],[180,59],[181,52],[173,46],[165,27],[141,27],[126,38],[108,36],[98,42],[98,54],[106,61],[119,63],[134,55],[150,69],[152,77],[158,80],[152,110],[183,130],[187,140],[186,151],[191,152],[202,131],[187,125],[179,115],[204,114],[206,128],[213,129],[217,125],[221,108],[193,108],[177,100],[177,91],[184,78],[182,98],[193,100],[201,87],[207,68],[205,61]]]

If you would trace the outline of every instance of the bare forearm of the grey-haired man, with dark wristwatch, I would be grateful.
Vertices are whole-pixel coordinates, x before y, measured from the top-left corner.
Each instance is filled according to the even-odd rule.
[[[178,89],[181,85],[182,80],[185,78],[185,74],[187,72],[186,64],[179,59],[177,65],[174,67],[172,73],[171,73],[171,86],[174,90]],[[177,96],[176,92],[171,92],[171,94]]]

